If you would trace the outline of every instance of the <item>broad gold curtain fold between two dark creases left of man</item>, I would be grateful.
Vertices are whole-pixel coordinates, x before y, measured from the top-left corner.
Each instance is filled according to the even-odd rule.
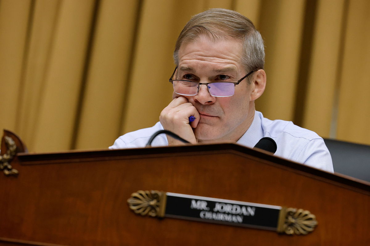
[[[121,3],[111,0],[99,4],[78,115],[77,149],[106,148],[121,133],[140,7],[136,0]]]

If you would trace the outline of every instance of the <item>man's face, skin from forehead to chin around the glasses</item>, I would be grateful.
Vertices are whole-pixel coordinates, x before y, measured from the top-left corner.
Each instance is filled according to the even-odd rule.
[[[237,82],[249,72],[241,64],[242,42],[236,39],[212,41],[201,36],[182,44],[178,55],[176,79],[200,83],[222,80]],[[237,141],[254,118],[253,88],[254,84],[248,85],[248,79],[244,79],[235,87],[235,94],[231,97],[213,97],[205,85],[200,86],[197,95],[185,96],[200,114],[199,123],[194,129],[198,141]],[[174,92],[175,97],[179,95]]]

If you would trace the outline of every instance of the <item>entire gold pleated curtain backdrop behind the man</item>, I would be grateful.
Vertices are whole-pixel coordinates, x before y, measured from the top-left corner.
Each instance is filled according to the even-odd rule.
[[[0,0],[0,129],[44,152],[106,148],[154,125],[179,32],[215,7],[265,40],[257,110],[370,144],[368,0]]]

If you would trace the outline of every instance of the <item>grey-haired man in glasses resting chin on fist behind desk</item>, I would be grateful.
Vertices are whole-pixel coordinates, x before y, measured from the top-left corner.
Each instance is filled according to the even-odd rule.
[[[177,39],[174,60],[173,100],[159,122],[121,136],[111,149],[144,147],[161,129],[193,144],[234,141],[253,147],[268,136],[277,143],[276,156],[333,172],[330,153],[316,133],[292,122],[270,121],[255,110],[266,85],[265,51],[248,18],[226,9],[195,15]],[[162,134],[152,146],[180,144]]]

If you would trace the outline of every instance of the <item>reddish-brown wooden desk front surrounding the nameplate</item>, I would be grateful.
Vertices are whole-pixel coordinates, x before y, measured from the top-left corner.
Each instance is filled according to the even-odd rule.
[[[370,245],[369,183],[234,144],[19,154],[13,167],[0,245]],[[318,226],[288,236],[140,216],[127,204],[138,190],[302,208]]]

